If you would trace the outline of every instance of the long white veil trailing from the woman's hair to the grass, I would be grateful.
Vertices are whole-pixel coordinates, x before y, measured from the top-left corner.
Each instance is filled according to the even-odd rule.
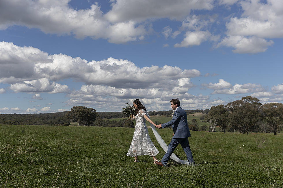
[[[142,102],[142,100],[139,99],[139,101],[140,101],[140,102],[142,103],[142,105],[144,106],[144,103]],[[144,107],[145,107],[145,106],[144,106]],[[146,115],[147,115],[148,118],[150,118],[147,112],[146,112]],[[166,144],[166,143],[164,142],[164,140],[161,138],[160,134],[157,132],[157,130],[155,129],[154,125],[152,125],[152,124],[150,123],[150,127],[151,127],[152,132],[153,132],[153,134],[154,134],[154,136],[155,136],[157,142],[159,143],[159,145],[163,148],[163,150],[164,150],[165,152],[167,152],[167,149],[168,149],[167,144]],[[187,160],[184,161],[184,160],[179,159],[179,157],[177,157],[177,155],[175,155],[174,153],[172,153],[172,155],[170,156],[170,158],[173,159],[174,161],[178,162],[178,163],[190,165],[189,161],[187,161]]]

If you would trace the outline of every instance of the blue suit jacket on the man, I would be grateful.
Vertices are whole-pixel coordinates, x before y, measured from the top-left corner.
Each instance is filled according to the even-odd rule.
[[[168,121],[165,124],[161,124],[162,128],[172,126],[174,136],[173,138],[186,138],[191,136],[189,127],[187,113],[181,107],[178,107],[173,115],[171,121]]]

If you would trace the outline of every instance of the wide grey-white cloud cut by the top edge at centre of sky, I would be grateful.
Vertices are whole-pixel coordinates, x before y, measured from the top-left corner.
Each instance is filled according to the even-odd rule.
[[[199,1],[112,1],[112,10],[105,17],[111,22],[126,20],[144,21],[150,18],[182,19],[190,14],[191,10],[211,10],[213,0]]]

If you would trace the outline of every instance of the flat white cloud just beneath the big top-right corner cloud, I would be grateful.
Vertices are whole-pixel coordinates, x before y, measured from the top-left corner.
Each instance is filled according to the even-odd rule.
[[[274,44],[273,41],[267,41],[262,38],[255,36],[252,37],[243,37],[240,35],[237,36],[228,36],[222,39],[218,43],[217,47],[228,46],[233,47],[235,50],[232,50],[234,53],[245,54],[245,53],[259,53],[265,52],[269,46]]]

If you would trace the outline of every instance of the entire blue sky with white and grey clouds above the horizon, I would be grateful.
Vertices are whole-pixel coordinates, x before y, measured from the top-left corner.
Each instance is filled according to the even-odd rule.
[[[0,0],[0,113],[283,101],[283,1]]]

